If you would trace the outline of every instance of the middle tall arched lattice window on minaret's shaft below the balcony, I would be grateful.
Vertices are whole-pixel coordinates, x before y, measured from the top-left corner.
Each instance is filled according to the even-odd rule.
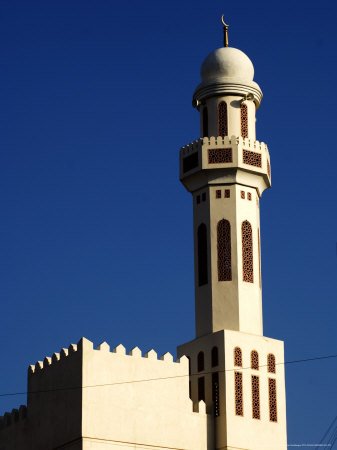
[[[231,281],[232,257],[231,257],[231,225],[228,220],[222,219],[217,226],[218,245],[218,280]]]

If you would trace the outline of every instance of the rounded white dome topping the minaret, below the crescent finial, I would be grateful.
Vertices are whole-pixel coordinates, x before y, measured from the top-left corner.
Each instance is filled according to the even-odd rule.
[[[222,47],[210,53],[201,66],[202,81],[214,78],[236,78],[253,81],[254,66],[241,50]]]

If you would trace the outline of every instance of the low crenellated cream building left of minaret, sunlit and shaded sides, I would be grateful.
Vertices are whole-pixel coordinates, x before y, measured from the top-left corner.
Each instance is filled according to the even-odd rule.
[[[211,448],[186,357],[82,338],[29,366],[27,400],[0,419],[1,450]]]

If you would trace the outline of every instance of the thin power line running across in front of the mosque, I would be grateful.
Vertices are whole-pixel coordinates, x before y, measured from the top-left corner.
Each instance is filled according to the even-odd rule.
[[[331,359],[331,358],[337,358],[337,354],[336,355],[327,355],[327,356],[317,356],[315,358],[295,359],[292,361],[284,361],[284,362],[276,363],[276,365],[298,364],[298,363],[303,363],[303,362],[318,361],[318,360],[322,360],[322,359]],[[267,364],[260,365],[259,367],[267,367]],[[234,372],[234,371],[246,370],[246,369],[251,369],[251,367],[237,367],[237,368],[233,368],[233,369],[224,369],[224,370],[218,370],[218,371],[213,371],[213,372],[193,373],[190,375],[174,375],[172,377],[144,378],[141,380],[118,381],[115,383],[94,384],[94,385],[89,385],[89,386],[74,386],[74,387],[68,387],[68,388],[66,387],[66,388],[56,388],[56,389],[45,389],[45,390],[39,390],[39,391],[7,392],[7,393],[0,394],[0,397],[10,397],[10,396],[14,396],[14,395],[25,395],[25,394],[39,394],[39,393],[44,393],[44,392],[69,391],[69,390],[87,389],[87,388],[103,387],[103,386],[117,386],[117,385],[121,385],[121,384],[131,384],[131,383],[144,383],[144,382],[148,382],[148,381],[169,380],[169,379],[173,379],[173,378],[184,378],[184,377],[198,376],[198,375],[204,376],[204,375],[212,374],[214,372],[218,372],[218,373]]]

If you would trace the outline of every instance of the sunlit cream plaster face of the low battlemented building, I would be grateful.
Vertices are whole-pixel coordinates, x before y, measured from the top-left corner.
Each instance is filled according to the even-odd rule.
[[[103,384],[83,389],[86,438],[107,441],[111,448],[207,449],[207,415],[193,412],[186,358],[174,363],[166,355],[161,361],[155,352],[141,357],[137,349],[126,355],[122,346],[116,352],[107,346],[93,350],[84,341],[83,385]]]

